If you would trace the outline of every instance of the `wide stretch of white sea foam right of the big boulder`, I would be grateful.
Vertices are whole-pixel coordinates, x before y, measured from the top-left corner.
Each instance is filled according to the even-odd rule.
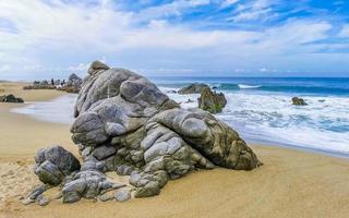
[[[184,108],[197,107],[198,95],[169,96]],[[349,154],[349,98],[303,96],[309,105],[293,106],[287,95],[236,92],[226,97],[217,118],[244,138]],[[183,104],[188,98],[195,102]]]

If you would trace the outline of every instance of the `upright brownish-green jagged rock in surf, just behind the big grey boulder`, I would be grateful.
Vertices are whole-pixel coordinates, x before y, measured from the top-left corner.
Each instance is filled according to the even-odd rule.
[[[198,108],[206,110],[210,113],[221,112],[227,105],[225,94],[212,92],[209,87],[205,87],[197,98]]]

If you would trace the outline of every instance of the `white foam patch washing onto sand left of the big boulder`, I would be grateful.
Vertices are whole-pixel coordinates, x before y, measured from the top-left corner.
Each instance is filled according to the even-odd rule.
[[[74,121],[73,108],[77,95],[69,94],[50,101],[27,102],[28,106],[14,108],[11,112],[23,113],[35,119],[71,124]]]

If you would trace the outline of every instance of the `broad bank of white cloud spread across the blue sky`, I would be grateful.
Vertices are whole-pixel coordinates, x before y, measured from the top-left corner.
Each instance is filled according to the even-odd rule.
[[[219,5],[236,4],[233,19],[244,22],[269,16],[275,2],[226,0],[219,1]],[[243,29],[198,28],[194,22],[174,23],[170,19],[210,3],[177,0],[132,11],[105,0],[89,4],[61,0],[29,4],[25,0],[0,1],[0,20],[7,21],[2,22],[7,28],[0,28],[0,65],[2,72],[85,71],[89,61],[105,56],[115,61],[110,64],[157,69],[156,72],[248,70],[252,63],[254,69],[262,69],[266,62],[282,63],[275,59],[293,56],[298,60],[299,53],[334,48],[318,43],[328,38],[333,29],[326,21],[291,19],[265,28]],[[345,29],[340,35],[346,35]],[[279,66],[273,64],[273,69]]]

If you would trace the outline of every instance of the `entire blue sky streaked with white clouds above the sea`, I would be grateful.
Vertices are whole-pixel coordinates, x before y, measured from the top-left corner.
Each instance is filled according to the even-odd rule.
[[[349,76],[345,0],[0,1],[0,78]]]

